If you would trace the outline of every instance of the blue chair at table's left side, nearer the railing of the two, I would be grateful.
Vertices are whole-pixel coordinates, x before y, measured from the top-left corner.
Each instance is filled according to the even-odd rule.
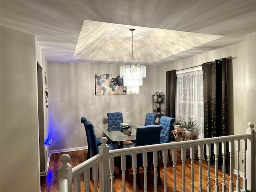
[[[89,143],[90,143],[90,147],[92,150],[92,156],[95,156],[96,154],[99,153],[99,146],[97,145],[96,142],[96,135],[94,132],[94,126],[92,124],[92,122],[90,121],[86,121],[86,130],[88,132],[88,138],[89,138]],[[116,146],[115,144],[108,144],[109,150],[113,150],[113,149],[119,149],[118,146]]]

